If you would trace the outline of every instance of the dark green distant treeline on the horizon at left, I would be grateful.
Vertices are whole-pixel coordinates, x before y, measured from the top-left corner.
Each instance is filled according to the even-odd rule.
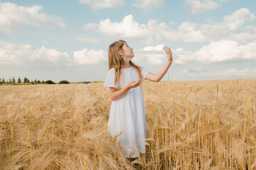
[[[81,82],[75,82],[77,84],[89,84],[89,83],[95,83],[99,81],[81,81]],[[18,77],[18,79],[15,79],[14,77],[11,79],[4,79],[0,78],[0,85],[21,85],[21,84],[70,84],[68,80],[61,80],[60,82],[56,83],[53,82],[52,80],[46,80],[46,81],[41,81],[39,79],[34,79],[34,80],[29,80],[27,77],[24,77],[21,79],[21,77]]]

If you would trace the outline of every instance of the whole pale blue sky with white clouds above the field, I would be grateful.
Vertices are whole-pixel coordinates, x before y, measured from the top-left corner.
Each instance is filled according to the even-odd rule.
[[[162,80],[256,78],[255,0],[0,0],[0,78],[104,81],[107,50]]]

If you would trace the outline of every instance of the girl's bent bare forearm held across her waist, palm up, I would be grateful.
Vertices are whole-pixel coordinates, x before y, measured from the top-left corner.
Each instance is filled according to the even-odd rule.
[[[139,84],[141,84],[141,82],[141,79],[138,79],[137,81],[130,81],[127,86],[124,86],[123,89],[119,90],[117,88],[110,87],[110,99],[112,101],[116,101],[117,99],[122,98],[122,96],[124,96],[124,94],[126,94],[129,89],[136,88],[139,86]]]

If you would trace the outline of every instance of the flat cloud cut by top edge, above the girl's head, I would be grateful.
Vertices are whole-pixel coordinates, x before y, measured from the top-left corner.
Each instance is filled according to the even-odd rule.
[[[124,4],[124,0],[80,0],[80,3],[91,6],[92,10],[97,10],[101,8],[122,6]]]

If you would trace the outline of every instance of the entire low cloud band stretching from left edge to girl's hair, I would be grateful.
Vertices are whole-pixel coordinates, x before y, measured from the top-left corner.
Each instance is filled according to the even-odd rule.
[[[16,45],[0,41],[0,65],[12,66],[43,66],[43,65],[75,65],[75,64],[100,64],[107,61],[107,52],[103,50],[88,50],[73,52],[73,57],[68,52],[59,52],[47,47],[33,47],[32,45]]]

